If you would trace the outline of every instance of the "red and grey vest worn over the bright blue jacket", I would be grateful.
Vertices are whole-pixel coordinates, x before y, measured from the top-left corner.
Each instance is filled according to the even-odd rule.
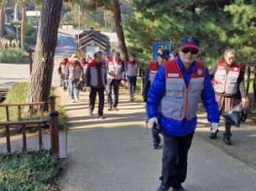
[[[175,120],[195,117],[205,78],[203,64],[196,63],[188,87],[175,59],[165,62],[165,78],[165,96],[161,102],[162,114]]]

